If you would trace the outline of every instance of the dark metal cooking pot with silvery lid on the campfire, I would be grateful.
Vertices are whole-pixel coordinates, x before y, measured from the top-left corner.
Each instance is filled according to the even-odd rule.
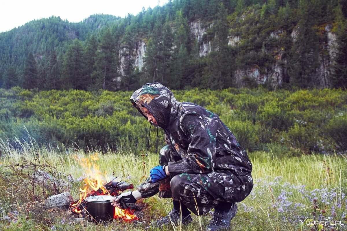
[[[97,222],[110,221],[113,219],[115,207],[111,205],[114,196],[88,196],[84,198],[87,212],[94,217]]]

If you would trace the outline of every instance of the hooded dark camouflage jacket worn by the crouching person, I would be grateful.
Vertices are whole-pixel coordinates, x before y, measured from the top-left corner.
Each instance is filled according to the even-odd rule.
[[[181,157],[179,161],[169,162],[171,176],[207,174],[218,170],[230,170],[238,176],[251,173],[252,164],[246,151],[217,114],[193,103],[177,101],[172,92],[160,83],[145,84],[134,92],[130,100],[146,119],[139,105],[152,113],[165,131],[168,144]],[[141,194],[145,194],[148,184],[153,183],[140,185]]]

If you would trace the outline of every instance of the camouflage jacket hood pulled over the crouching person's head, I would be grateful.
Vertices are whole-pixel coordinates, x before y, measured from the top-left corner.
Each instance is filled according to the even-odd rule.
[[[182,105],[167,87],[158,82],[143,85],[133,93],[130,101],[146,119],[140,107],[147,108],[161,128],[166,128],[177,118]]]

